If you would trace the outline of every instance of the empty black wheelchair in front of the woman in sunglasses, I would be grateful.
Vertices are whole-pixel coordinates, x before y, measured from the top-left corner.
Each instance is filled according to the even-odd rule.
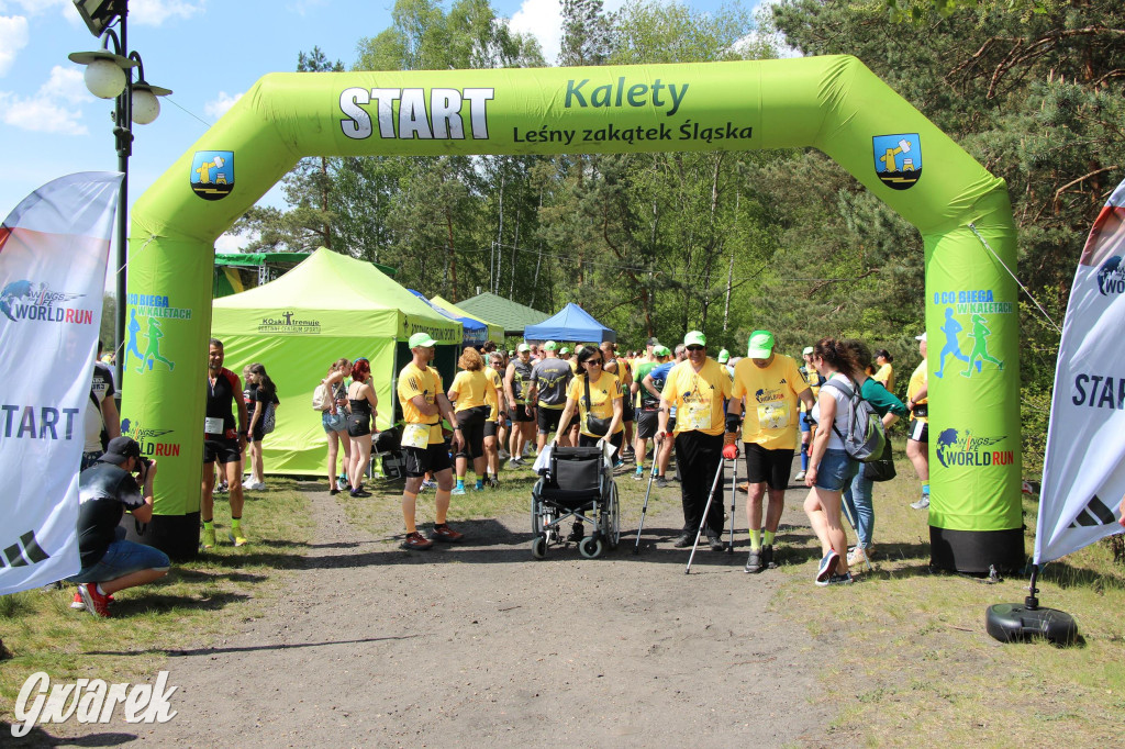
[[[531,490],[531,553],[536,559],[546,557],[550,545],[565,543],[561,526],[568,520],[591,529],[578,542],[578,552],[587,559],[615,549],[621,540],[618,487],[600,448],[556,446],[551,451],[546,475]]]

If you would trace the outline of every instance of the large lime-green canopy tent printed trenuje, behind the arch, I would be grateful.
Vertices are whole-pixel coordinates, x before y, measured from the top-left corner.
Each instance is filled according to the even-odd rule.
[[[420,331],[438,341],[438,369],[449,385],[460,323],[370,263],[323,247],[276,281],[216,299],[212,335],[223,341],[226,367],[241,377],[244,366],[261,362],[278,387],[277,426],[263,442],[266,472],[325,472],[327,441],[312,409],[313,390],[341,357],[371,362],[376,424],[389,427],[398,407],[395,377],[411,355],[406,340]]]

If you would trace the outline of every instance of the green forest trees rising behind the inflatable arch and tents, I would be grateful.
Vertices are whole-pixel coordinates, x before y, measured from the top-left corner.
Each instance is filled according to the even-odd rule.
[[[317,47],[298,71],[447,70],[850,54],[1008,183],[1016,273],[1062,325],[1087,233],[1125,172],[1120,0],[564,0],[558,60],[488,0],[397,0],[393,26],[345,65]],[[548,313],[583,306],[626,348],[702,330],[712,353],[750,331],[799,354],[825,335],[919,361],[917,229],[812,148],[560,156],[314,157],[288,208],[255,207],[248,251],[326,246],[398,269],[458,301],[492,291]],[[1060,333],[1020,296],[1025,475],[1042,466]]]

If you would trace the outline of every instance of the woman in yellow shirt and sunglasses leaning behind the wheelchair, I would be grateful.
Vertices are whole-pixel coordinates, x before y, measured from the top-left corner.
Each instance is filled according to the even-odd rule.
[[[576,359],[578,376],[570,380],[570,387],[567,388],[566,407],[559,417],[556,434],[566,434],[577,407],[578,446],[592,448],[601,440],[609,440],[620,455],[624,440],[624,426],[621,423],[624,394],[621,381],[602,371],[604,361],[597,346],[583,346]]]

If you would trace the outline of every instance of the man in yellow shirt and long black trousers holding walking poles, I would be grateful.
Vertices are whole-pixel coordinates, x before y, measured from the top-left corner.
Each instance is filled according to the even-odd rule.
[[[714,477],[722,464],[723,401],[731,395],[726,368],[706,355],[706,336],[692,331],[684,336],[687,359],[668,372],[660,391],[660,416],[656,439],[665,439],[672,408],[676,408],[675,445],[680,466],[680,496],[684,529],[677,549],[692,545],[703,520],[703,509]],[[722,551],[722,485],[714,485],[706,517],[706,538],[712,551]]]

